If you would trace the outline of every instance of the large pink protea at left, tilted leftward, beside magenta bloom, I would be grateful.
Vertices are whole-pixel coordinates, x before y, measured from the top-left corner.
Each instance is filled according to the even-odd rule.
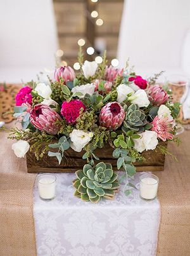
[[[35,128],[55,135],[60,127],[55,124],[57,120],[62,120],[60,115],[47,105],[37,104],[30,111],[30,122]]]

